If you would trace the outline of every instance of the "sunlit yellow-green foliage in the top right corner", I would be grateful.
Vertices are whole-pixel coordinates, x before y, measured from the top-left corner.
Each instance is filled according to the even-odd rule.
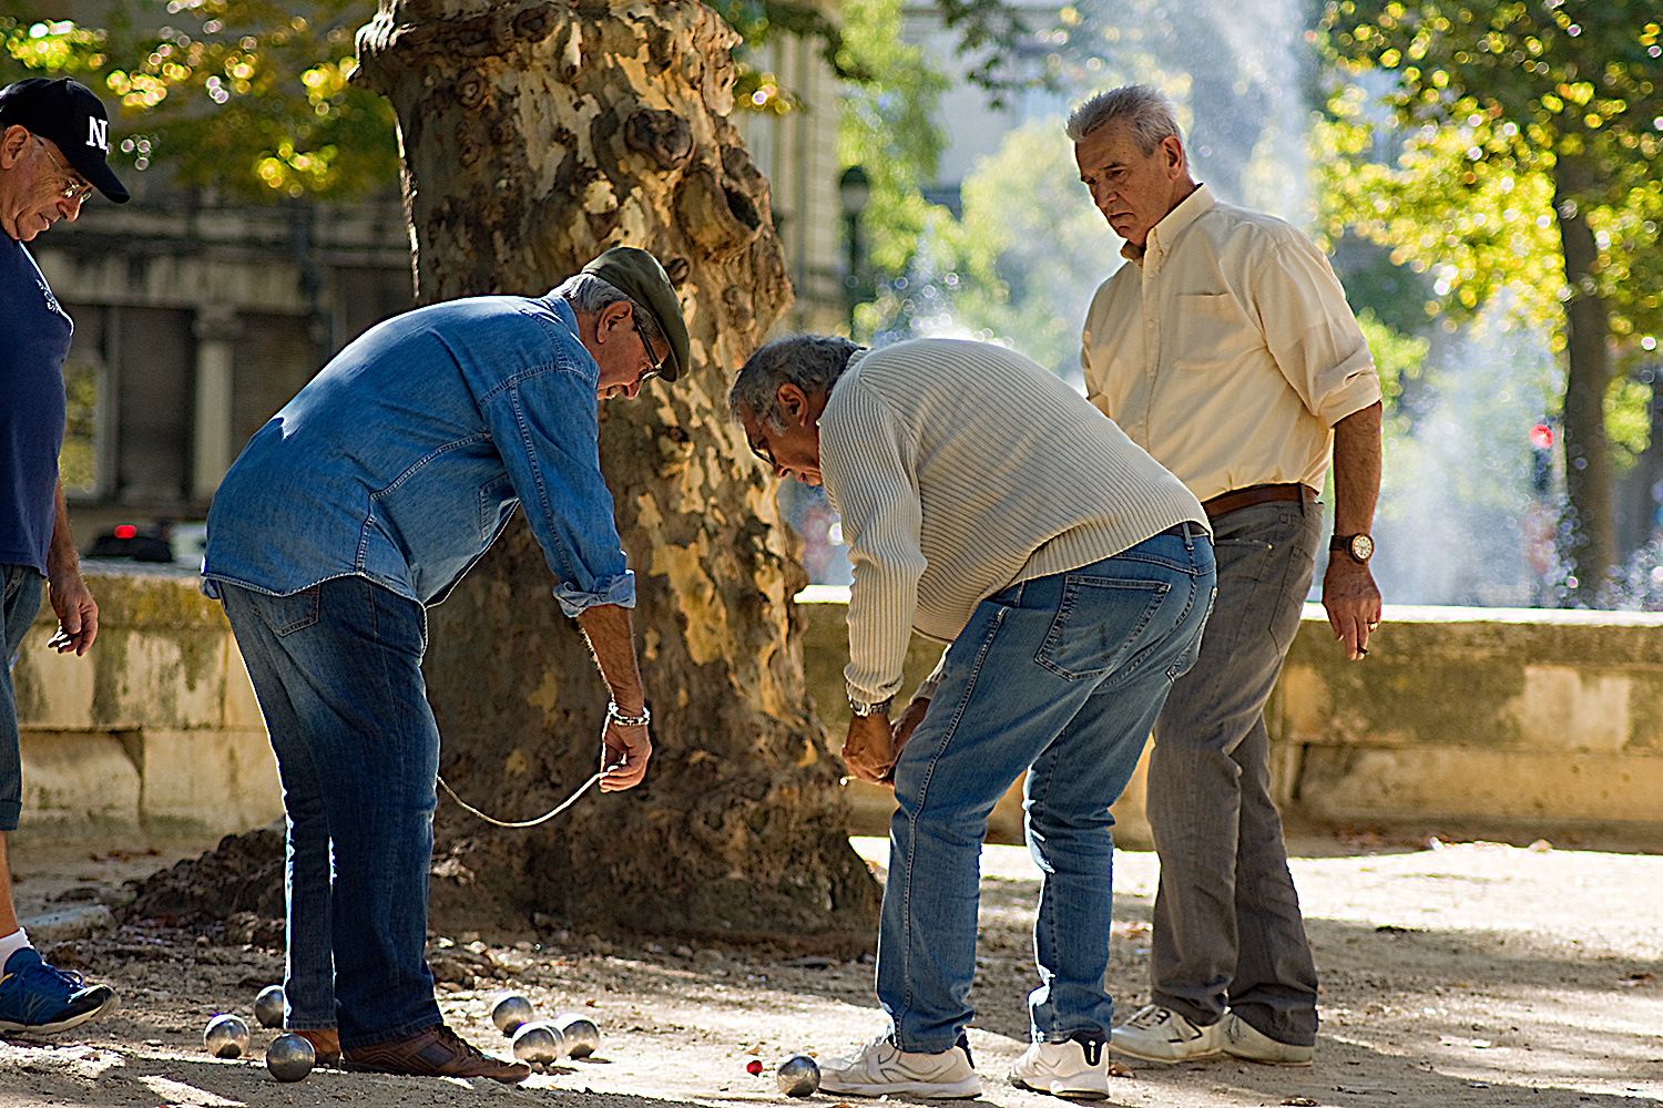
[[[1663,331],[1656,20],[1653,0],[1330,2],[1319,42],[1342,76],[1389,81],[1390,123],[1370,118],[1359,85],[1332,88],[1315,159],[1330,231],[1349,224],[1434,267],[1435,311],[1457,322],[1505,287],[1563,344],[1553,169],[1583,159],[1593,173],[1565,214],[1587,218],[1600,259],[1577,292],[1606,301],[1613,339],[1653,349],[1635,341]]]

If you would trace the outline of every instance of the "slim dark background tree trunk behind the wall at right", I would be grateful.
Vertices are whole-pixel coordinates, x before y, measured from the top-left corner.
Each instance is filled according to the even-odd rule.
[[[1553,208],[1565,251],[1565,507],[1562,556],[1577,585],[1577,603],[1593,606],[1616,565],[1616,523],[1611,517],[1611,458],[1605,440],[1605,394],[1611,385],[1606,352],[1610,319],[1595,284],[1600,251],[1583,213],[1593,183],[1580,156],[1562,154],[1553,169]]]

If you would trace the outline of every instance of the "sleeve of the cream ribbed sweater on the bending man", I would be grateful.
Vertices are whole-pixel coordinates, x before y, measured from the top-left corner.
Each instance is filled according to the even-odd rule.
[[[901,688],[901,668],[926,568],[923,503],[893,412],[856,380],[841,380],[820,417],[820,467],[843,518],[851,698],[878,703]]]

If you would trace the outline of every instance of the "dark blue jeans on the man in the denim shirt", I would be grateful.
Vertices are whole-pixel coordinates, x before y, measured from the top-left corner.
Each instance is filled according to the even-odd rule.
[[[286,1023],[339,1027],[344,1048],[434,1027],[426,613],[361,576],[289,596],[221,590],[283,779]]]

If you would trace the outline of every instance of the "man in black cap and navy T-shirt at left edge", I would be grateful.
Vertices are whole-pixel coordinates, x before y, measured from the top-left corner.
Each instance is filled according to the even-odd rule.
[[[85,85],[40,78],[0,90],[0,1032],[63,1032],[113,1012],[108,985],[47,963],[12,902],[7,834],[23,796],[17,698],[5,663],[17,658],[42,591],[58,616],[48,648],[86,653],[98,605],[81,580],[58,480],[63,359],[73,324],[28,243],[75,219],[93,188],[126,189],[105,164],[110,121]]]

